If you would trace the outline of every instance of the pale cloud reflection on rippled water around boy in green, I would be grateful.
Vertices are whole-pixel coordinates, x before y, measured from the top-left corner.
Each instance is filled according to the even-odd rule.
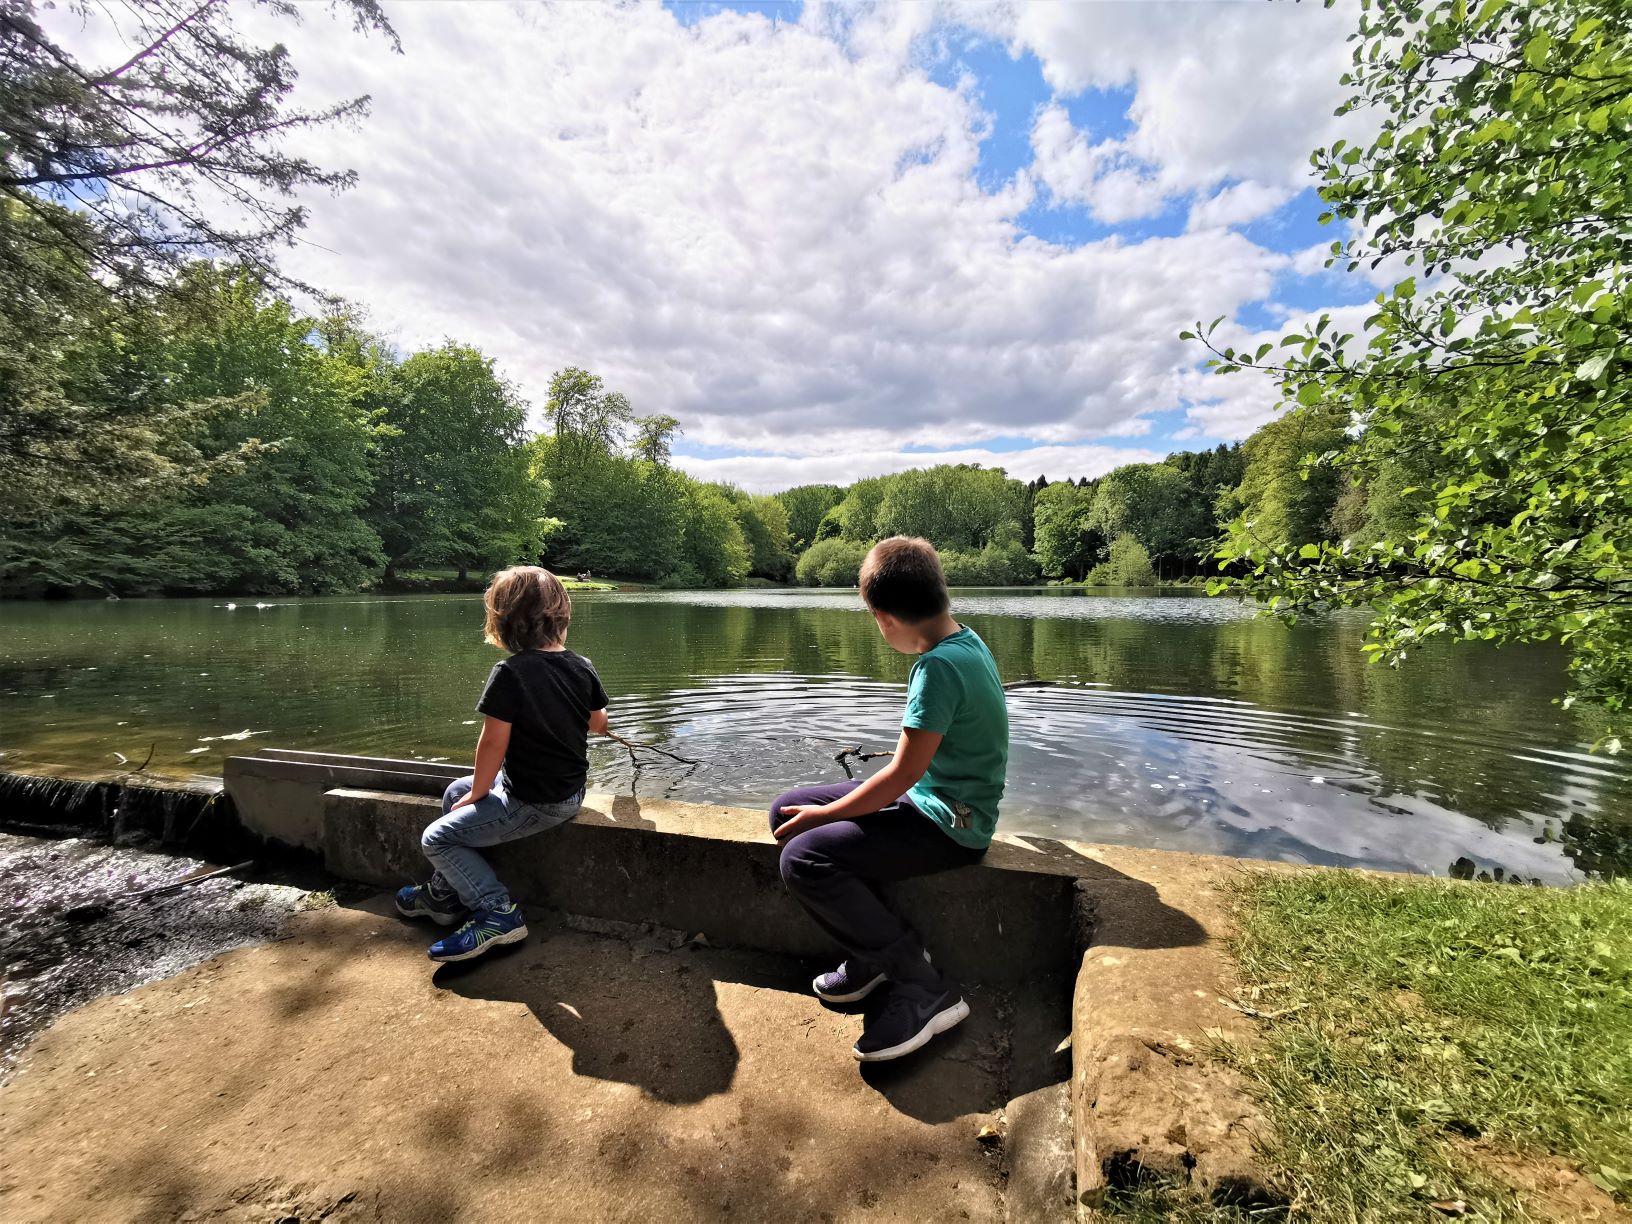
[[[620,713],[705,761],[663,793],[764,803],[798,782],[842,777],[839,747],[891,746],[901,695],[901,685],[863,677],[764,672],[648,694]],[[1421,730],[1072,687],[1010,694],[1010,723],[1005,832],[1436,875],[1466,855],[1526,878],[1577,876],[1560,845],[1534,840],[1549,813],[1483,824],[1430,793],[1390,787],[1368,747]],[[1511,761],[1526,774],[1549,770],[1572,806],[1598,806],[1603,785],[1627,777],[1578,752],[1532,749]],[[602,785],[627,785],[625,769],[627,759],[597,756]],[[646,765],[643,780],[658,785],[674,772]],[[1503,785],[1500,775],[1483,782]]]

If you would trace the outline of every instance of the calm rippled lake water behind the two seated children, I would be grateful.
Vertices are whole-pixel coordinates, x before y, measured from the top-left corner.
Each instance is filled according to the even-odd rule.
[[[909,659],[854,592],[579,596],[571,645],[612,694],[592,782],[762,805],[893,744]],[[1632,863],[1632,767],[1552,705],[1550,650],[1443,648],[1371,667],[1359,623],[1288,630],[1193,592],[968,591],[1010,694],[1002,827],[1444,875],[1565,881]],[[3,605],[0,769],[219,774],[281,746],[468,761],[496,658],[478,597]],[[245,741],[246,738],[246,741]]]

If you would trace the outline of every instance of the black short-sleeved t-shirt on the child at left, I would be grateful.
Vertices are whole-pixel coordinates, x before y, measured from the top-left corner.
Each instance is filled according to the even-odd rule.
[[[560,803],[589,775],[589,715],[607,705],[594,664],[570,650],[529,650],[494,664],[477,712],[511,725],[512,798]]]

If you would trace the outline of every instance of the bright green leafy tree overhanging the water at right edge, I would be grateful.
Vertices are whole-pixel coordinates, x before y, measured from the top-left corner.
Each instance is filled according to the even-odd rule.
[[[1232,526],[1216,589],[1288,617],[1377,609],[1366,650],[1399,663],[1431,638],[1559,640],[1575,695],[1617,751],[1632,695],[1632,24],[1621,0],[1376,0],[1353,34],[1345,109],[1369,145],[1317,150],[1332,261],[1413,276],[1366,335],[1330,318],[1221,372],[1281,379],[1291,415],[1355,415],[1315,460],[1361,480],[1431,457],[1413,522],[1369,547],[1296,550]],[[1211,330],[1206,330],[1208,344]]]

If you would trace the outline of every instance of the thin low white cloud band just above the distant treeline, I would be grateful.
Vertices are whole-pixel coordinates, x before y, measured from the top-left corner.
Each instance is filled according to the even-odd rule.
[[[1027,450],[836,450],[805,459],[785,455],[739,455],[734,459],[676,457],[676,465],[698,480],[725,480],[751,493],[774,493],[795,485],[847,485],[863,477],[881,477],[937,463],[979,463],[1000,467],[1015,480],[1046,475],[1049,480],[1102,477],[1123,463],[1157,463],[1165,450],[1118,446],[1040,446]]]

